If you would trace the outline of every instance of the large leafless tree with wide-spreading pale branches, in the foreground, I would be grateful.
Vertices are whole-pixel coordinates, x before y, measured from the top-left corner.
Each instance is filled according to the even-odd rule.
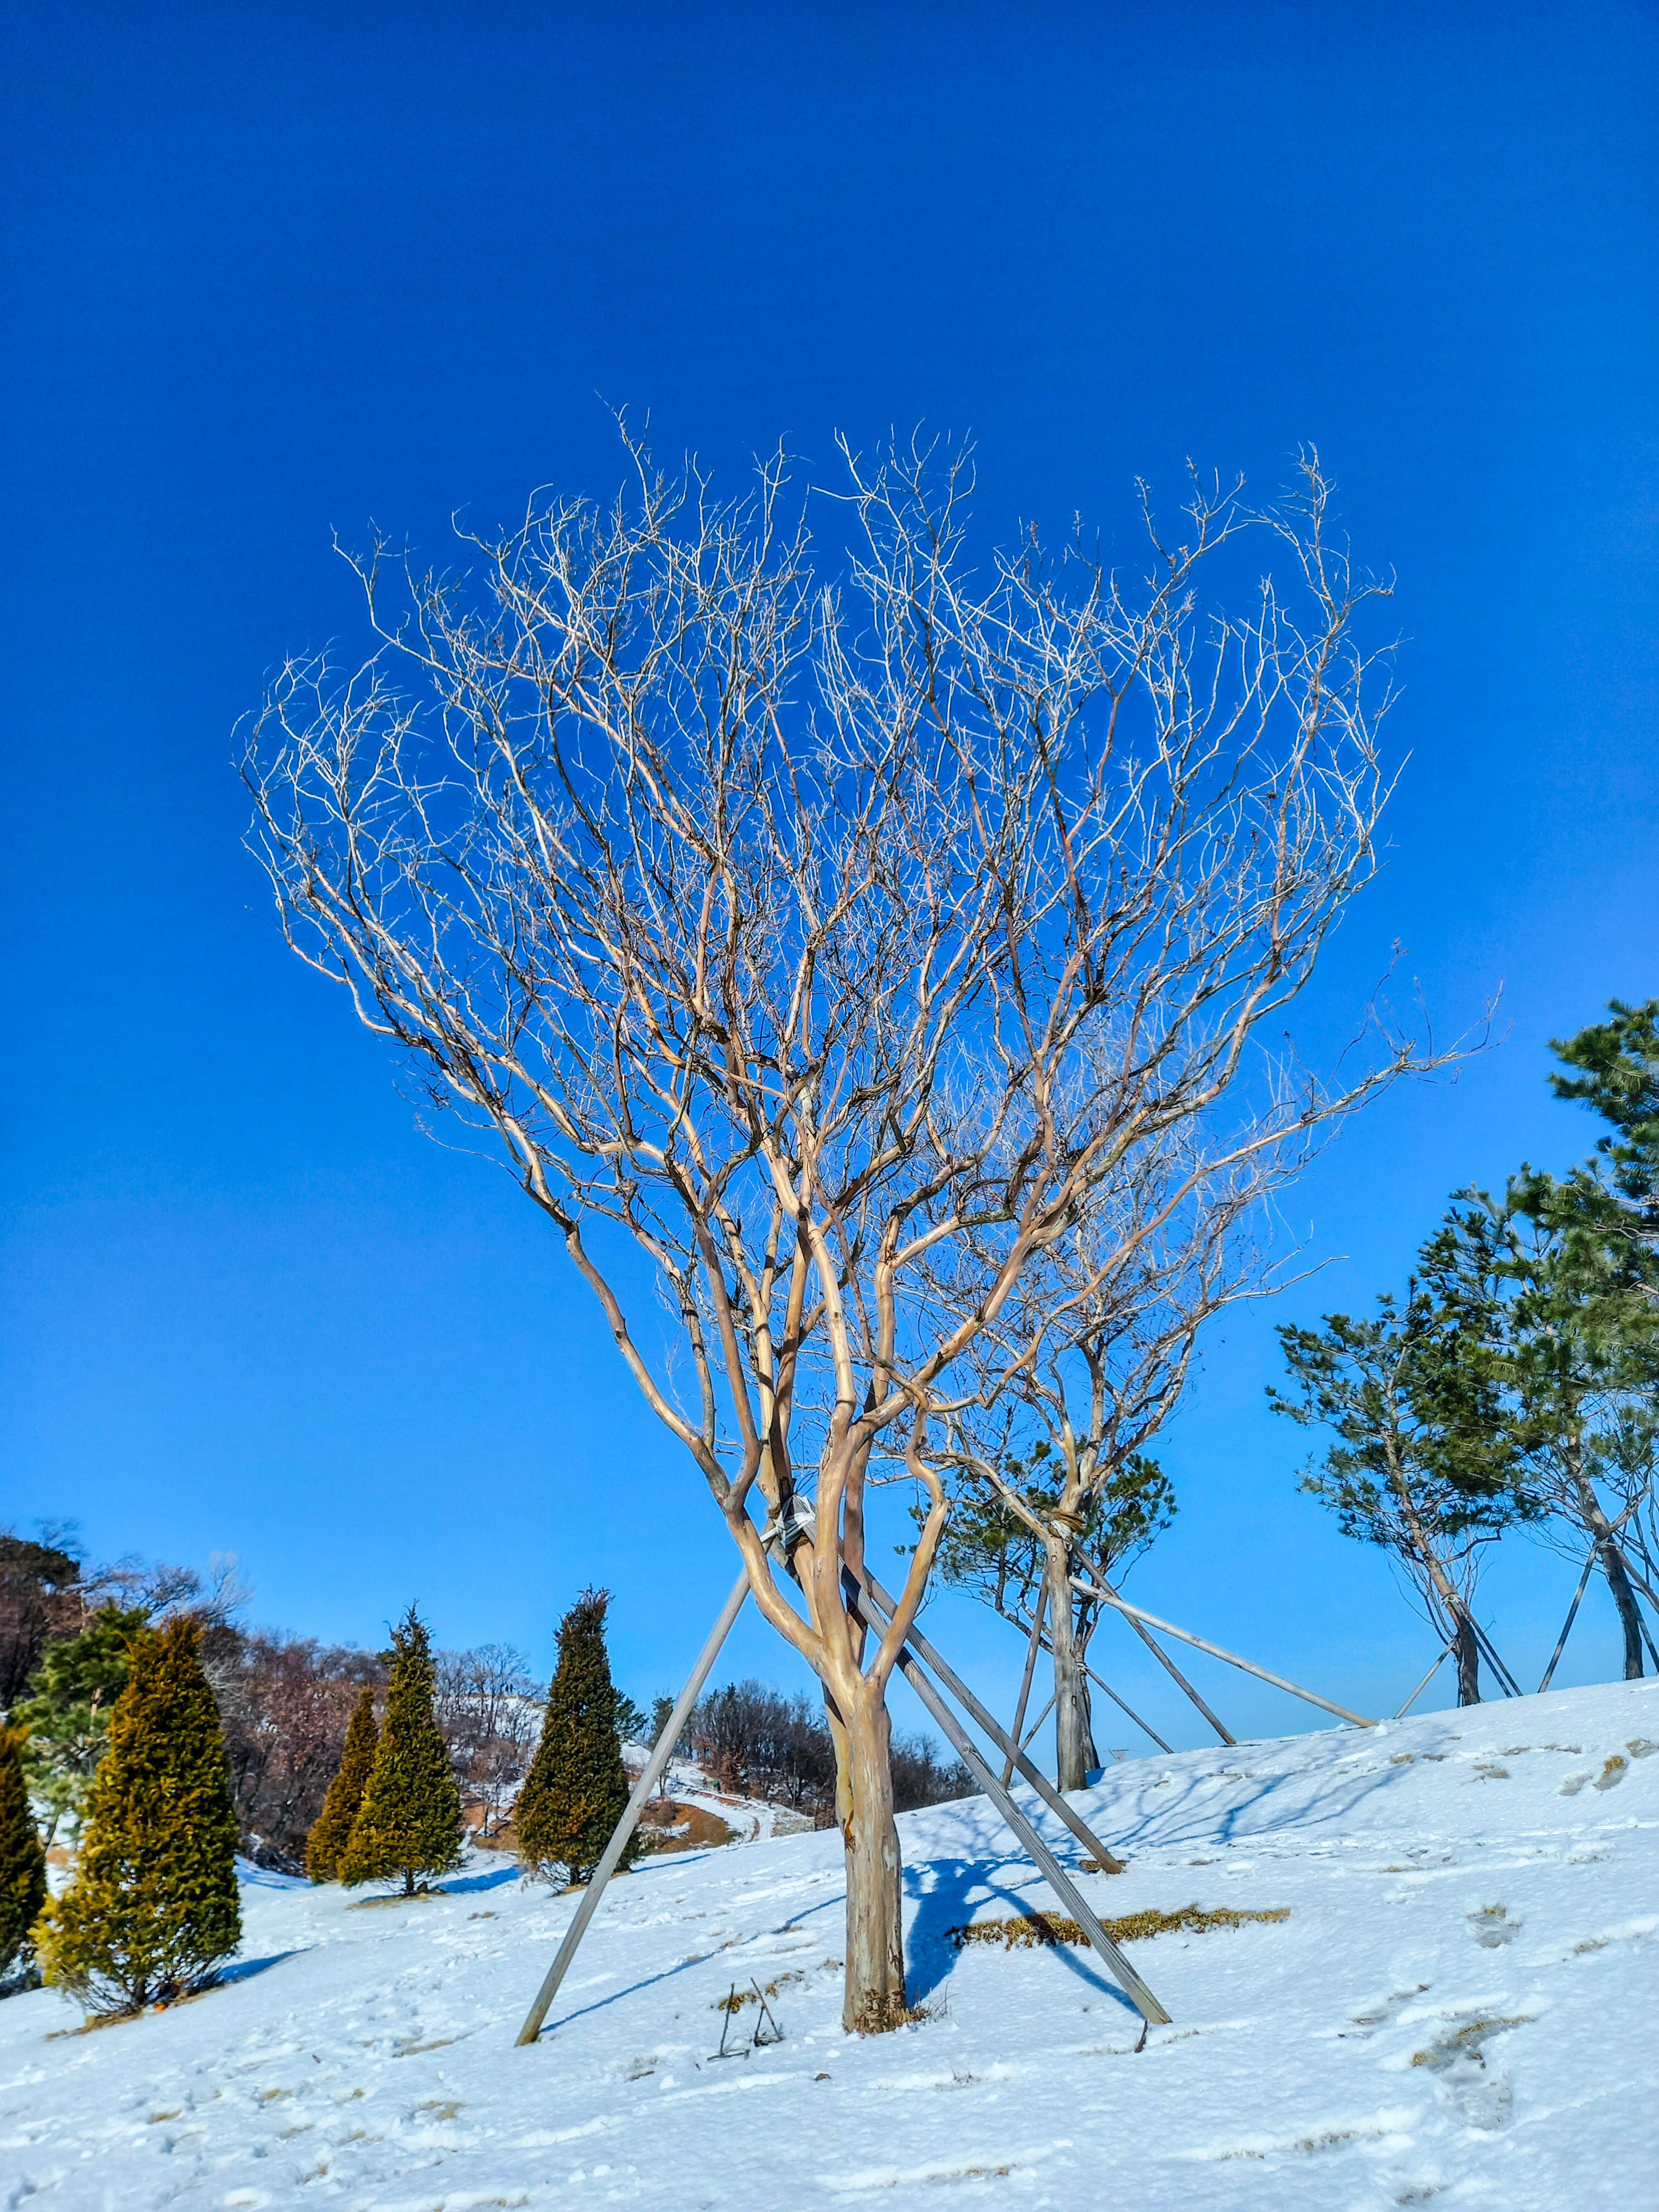
[[[942,1425],[984,1387],[958,1367],[1099,1183],[1252,1075],[1369,876],[1387,690],[1356,617],[1383,586],[1329,544],[1312,458],[1267,511],[1194,482],[1126,580],[1035,533],[975,568],[962,456],[843,449],[825,582],[781,458],[721,504],[628,451],[615,507],[538,495],[467,538],[476,580],[354,562],[380,648],[272,686],[254,843],[294,951],[504,1146],[821,1677],[845,2022],[885,2028],[887,1681],[947,1520]],[[1349,1102],[1411,1046],[1360,1057]],[[878,1453],[927,1511],[874,1637],[843,1571]]]

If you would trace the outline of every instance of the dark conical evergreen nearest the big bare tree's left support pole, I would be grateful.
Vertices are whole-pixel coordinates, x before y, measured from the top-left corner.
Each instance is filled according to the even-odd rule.
[[[560,1663],[546,1697],[542,1741],[518,1794],[513,1827],[526,1867],[564,1867],[580,1882],[628,1805],[617,1741],[617,1692],[604,1648],[608,1590],[584,1590],[560,1624]],[[622,1863],[635,1856],[635,1838]]]

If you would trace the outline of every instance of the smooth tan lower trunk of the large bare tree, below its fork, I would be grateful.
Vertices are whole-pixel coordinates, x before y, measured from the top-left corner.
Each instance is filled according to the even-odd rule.
[[[905,2004],[902,1863],[894,1825],[891,1723],[878,1690],[860,1681],[841,1708],[845,1732],[847,1980],[841,2024],[883,2035],[909,2017]]]

